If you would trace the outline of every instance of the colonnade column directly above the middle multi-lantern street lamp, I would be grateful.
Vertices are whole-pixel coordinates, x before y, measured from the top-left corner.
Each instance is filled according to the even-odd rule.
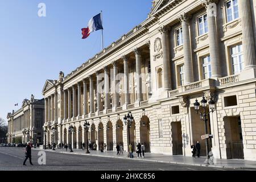
[[[127,56],[122,56],[123,59],[123,88],[125,92],[125,105],[131,104],[130,93],[129,93],[129,63]]]

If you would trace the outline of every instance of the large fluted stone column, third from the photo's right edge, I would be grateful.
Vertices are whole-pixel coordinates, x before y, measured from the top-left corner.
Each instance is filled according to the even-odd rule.
[[[182,24],[183,30],[183,49],[184,49],[184,82],[189,84],[193,82],[193,65],[192,65],[192,52],[191,52],[191,42],[189,35],[189,22],[191,20],[191,15],[184,13],[180,15],[180,22]]]

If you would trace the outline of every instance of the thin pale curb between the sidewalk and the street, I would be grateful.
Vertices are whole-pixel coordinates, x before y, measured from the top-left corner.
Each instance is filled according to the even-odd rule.
[[[34,150],[43,150],[44,149],[38,149],[34,148]],[[102,157],[102,158],[115,158],[115,159],[123,159],[123,160],[136,160],[136,158],[123,158],[123,157],[118,157],[118,156],[105,156],[105,155],[97,155],[97,154],[79,154],[76,152],[64,152],[64,151],[52,151],[52,150],[47,150],[49,152],[58,152],[61,154],[73,154],[73,155],[87,155],[87,156],[97,156],[97,157]],[[228,166],[220,166],[220,165],[207,165],[207,164],[195,164],[195,163],[182,163],[182,162],[170,162],[170,161],[163,161],[163,160],[152,160],[152,159],[143,159],[143,160],[137,160],[137,161],[146,161],[146,162],[156,162],[156,163],[167,163],[167,164],[179,164],[179,165],[184,165],[184,166],[200,166],[200,167],[211,167],[211,168],[225,168],[225,169],[254,169],[256,170],[256,167],[228,167]]]

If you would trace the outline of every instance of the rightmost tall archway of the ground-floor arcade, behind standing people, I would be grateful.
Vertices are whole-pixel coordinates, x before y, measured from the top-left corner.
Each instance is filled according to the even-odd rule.
[[[145,146],[145,152],[150,152],[150,121],[146,115],[141,118],[139,133],[141,136],[141,144]]]

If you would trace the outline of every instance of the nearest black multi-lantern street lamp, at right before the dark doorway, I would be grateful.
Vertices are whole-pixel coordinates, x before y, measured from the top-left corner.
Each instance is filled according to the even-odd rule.
[[[207,114],[206,113],[206,109],[207,109],[207,100],[205,100],[205,97],[203,97],[203,100],[201,100],[201,105],[204,109],[204,113],[200,113],[199,112],[199,109],[200,109],[200,104],[199,102],[197,101],[196,99],[196,102],[194,103],[194,106],[195,106],[195,110],[196,110],[196,113],[199,114],[200,113],[200,119],[202,119],[204,121],[204,129],[205,129],[205,135],[208,135],[208,129],[207,129],[207,115],[209,113],[213,113],[215,111],[215,102],[212,100],[212,98],[210,98],[210,101],[209,101],[209,107],[210,107],[210,111],[209,113]],[[209,137],[208,137],[209,138]],[[205,145],[206,145],[206,153],[207,153],[207,159],[205,160],[205,163],[209,164],[209,142],[208,142],[208,138],[205,139]]]

